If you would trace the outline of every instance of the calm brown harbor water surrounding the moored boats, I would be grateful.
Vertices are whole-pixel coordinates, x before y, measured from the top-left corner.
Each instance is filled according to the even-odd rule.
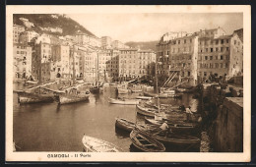
[[[21,88],[22,85],[15,84],[14,89]],[[122,96],[132,98],[138,95],[139,93],[129,93]],[[198,101],[192,95],[160,99],[160,102],[184,104],[196,111]],[[144,123],[144,116],[136,114],[135,105],[110,104],[108,97],[117,97],[112,86],[105,88],[103,93],[91,94],[85,102],[20,105],[14,92],[13,134],[16,145],[19,146],[17,151],[82,151],[84,134],[112,142],[124,151],[133,151],[129,134],[115,130],[115,118]]]

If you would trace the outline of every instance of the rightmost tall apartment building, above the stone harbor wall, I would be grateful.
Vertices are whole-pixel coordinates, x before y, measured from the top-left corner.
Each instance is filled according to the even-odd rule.
[[[220,31],[216,28],[198,33],[198,76],[203,79],[211,74],[233,77],[242,73],[242,41],[235,33]]]

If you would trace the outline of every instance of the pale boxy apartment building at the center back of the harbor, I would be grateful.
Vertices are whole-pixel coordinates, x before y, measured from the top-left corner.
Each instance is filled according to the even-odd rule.
[[[127,80],[154,76],[156,55],[151,50],[120,49],[119,78]]]

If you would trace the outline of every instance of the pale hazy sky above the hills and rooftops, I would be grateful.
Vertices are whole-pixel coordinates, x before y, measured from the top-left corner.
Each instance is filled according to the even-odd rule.
[[[205,28],[224,28],[227,34],[243,28],[242,13],[134,13],[134,14],[75,14],[68,15],[97,37],[110,36],[113,40],[160,40],[168,31],[192,33]]]

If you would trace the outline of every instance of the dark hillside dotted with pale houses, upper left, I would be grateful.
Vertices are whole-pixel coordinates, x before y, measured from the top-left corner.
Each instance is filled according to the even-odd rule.
[[[87,28],[84,28],[76,21],[65,15],[56,14],[15,14],[13,15],[13,23],[16,25],[27,26],[27,29],[34,30],[38,33],[47,32],[57,35],[73,35],[79,31],[96,36]],[[33,27],[28,27],[20,18],[28,19],[29,24]]]

